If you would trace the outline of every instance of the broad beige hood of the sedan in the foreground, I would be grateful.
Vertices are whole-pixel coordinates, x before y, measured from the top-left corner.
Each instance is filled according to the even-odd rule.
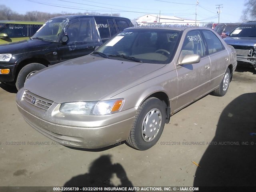
[[[133,86],[135,80],[163,66],[88,55],[37,72],[24,89],[56,103],[94,101]]]

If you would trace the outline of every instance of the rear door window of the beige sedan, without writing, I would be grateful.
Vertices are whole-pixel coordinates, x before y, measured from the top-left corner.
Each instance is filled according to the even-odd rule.
[[[203,30],[202,32],[206,40],[209,54],[224,50],[224,46],[213,32],[208,30]]]

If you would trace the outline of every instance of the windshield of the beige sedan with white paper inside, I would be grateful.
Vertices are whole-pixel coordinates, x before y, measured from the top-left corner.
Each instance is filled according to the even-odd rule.
[[[92,54],[110,59],[167,64],[172,60],[180,31],[162,29],[124,30]]]

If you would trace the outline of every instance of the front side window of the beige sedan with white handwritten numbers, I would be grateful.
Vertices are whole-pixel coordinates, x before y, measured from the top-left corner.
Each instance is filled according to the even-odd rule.
[[[184,58],[184,56],[191,54],[198,54],[201,57],[206,55],[202,36],[198,30],[190,31],[186,34],[180,53],[180,61]]]

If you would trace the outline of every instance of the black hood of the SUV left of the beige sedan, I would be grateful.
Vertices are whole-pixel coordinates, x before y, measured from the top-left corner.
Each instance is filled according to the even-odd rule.
[[[52,44],[54,42],[42,40],[24,40],[10,44],[0,45],[1,53],[11,53],[12,55],[27,53],[40,49],[41,46]]]

